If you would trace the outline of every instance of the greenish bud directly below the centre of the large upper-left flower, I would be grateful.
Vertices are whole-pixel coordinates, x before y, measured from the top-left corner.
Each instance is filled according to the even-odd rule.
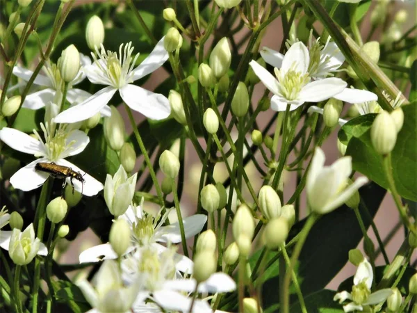
[[[112,150],[119,151],[124,145],[125,129],[124,120],[120,112],[111,107],[111,116],[104,118],[104,137]]]

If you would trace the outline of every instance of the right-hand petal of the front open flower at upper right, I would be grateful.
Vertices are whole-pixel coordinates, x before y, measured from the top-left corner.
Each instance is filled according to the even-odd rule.
[[[346,86],[345,81],[335,77],[312,81],[302,88],[298,99],[303,102],[320,102],[341,93]]]

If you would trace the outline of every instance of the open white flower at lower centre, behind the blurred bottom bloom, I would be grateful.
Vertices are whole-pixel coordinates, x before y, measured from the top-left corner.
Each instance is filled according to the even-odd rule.
[[[129,223],[132,232],[131,248],[127,252],[131,252],[141,246],[156,246],[161,251],[166,248],[158,244],[162,243],[179,243],[181,242],[181,232],[179,223],[172,223],[167,226],[163,226],[169,212],[167,212],[161,219],[153,218],[149,214],[145,214],[141,207],[130,206],[127,211],[120,216]],[[156,224],[154,220],[159,220]],[[186,238],[190,238],[198,234],[204,224],[206,223],[207,216],[204,214],[195,214],[183,219],[184,233]],[[84,262],[99,262],[102,259],[116,259],[117,254],[111,248],[110,243],[104,243],[99,246],[95,246],[84,250],[79,256],[80,263]]]

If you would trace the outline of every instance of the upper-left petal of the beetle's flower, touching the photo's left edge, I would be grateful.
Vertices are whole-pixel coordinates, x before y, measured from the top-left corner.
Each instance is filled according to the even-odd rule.
[[[14,150],[27,154],[43,154],[44,148],[40,141],[17,129],[4,127],[0,130],[0,140]]]

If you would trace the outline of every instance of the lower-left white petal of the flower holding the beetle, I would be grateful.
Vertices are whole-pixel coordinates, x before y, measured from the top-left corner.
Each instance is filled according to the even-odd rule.
[[[31,191],[42,185],[49,177],[47,172],[35,170],[35,164],[39,162],[48,161],[47,159],[37,159],[27,166],[21,168],[10,177],[10,184],[16,189],[22,191]]]

